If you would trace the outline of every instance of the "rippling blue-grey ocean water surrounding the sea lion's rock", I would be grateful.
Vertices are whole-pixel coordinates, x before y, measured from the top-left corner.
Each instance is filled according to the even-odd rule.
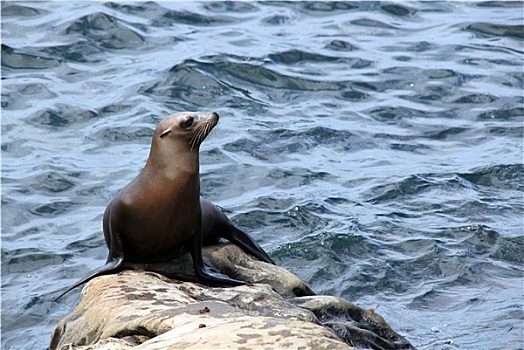
[[[155,125],[202,194],[418,349],[523,349],[521,2],[2,2],[2,349],[46,349]]]

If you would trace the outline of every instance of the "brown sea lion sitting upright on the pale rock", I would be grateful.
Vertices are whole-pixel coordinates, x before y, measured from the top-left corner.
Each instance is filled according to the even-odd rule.
[[[202,242],[226,238],[247,253],[274,264],[245,232],[213,203],[200,197],[200,144],[218,123],[217,113],[176,113],[155,129],[144,169],[107,205],[103,229],[106,264],[56,299],[89,280],[123,269],[124,262],[170,261],[188,250],[196,275],[215,285],[241,285],[204,263]]]

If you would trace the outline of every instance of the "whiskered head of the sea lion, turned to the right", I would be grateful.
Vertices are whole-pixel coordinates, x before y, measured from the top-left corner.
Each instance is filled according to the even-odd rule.
[[[181,146],[185,144],[190,151],[196,150],[198,152],[200,144],[217,125],[218,119],[218,114],[215,112],[180,112],[173,114],[158,124],[153,142],[172,141]]]

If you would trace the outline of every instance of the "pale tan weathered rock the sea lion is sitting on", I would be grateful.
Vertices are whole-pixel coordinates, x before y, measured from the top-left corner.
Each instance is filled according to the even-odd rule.
[[[316,296],[295,275],[234,245],[206,247],[204,258],[253,284],[218,288],[171,279],[195,280],[189,255],[126,265],[134,270],[86,284],[49,349],[413,349],[378,314]]]

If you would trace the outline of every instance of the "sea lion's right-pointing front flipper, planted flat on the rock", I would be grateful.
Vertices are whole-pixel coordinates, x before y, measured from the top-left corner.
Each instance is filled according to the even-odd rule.
[[[197,277],[212,285],[241,286],[246,284],[246,282],[221,274],[204,262],[204,259],[202,258],[201,236],[201,234],[196,234],[195,238],[190,242],[190,245],[188,245],[189,253],[193,259],[193,268],[195,269]]]

